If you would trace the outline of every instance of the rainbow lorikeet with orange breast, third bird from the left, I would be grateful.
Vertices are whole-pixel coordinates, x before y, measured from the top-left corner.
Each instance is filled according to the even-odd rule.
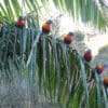
[[[51,25],[52,21],[49,19],[43,26],[42,26],[42,33],[49,35],[51,31]]]

